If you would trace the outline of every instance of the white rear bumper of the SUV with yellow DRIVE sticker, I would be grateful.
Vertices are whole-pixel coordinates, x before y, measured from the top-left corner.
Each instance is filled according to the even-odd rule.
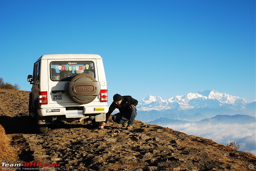
[[[42,108],[37,109],[39,116],[66,115],[67,118],[84,117],[84,115],[97,115],[107,113],[108,106],[84,106],[83,110],[66,110],[66,108]]]

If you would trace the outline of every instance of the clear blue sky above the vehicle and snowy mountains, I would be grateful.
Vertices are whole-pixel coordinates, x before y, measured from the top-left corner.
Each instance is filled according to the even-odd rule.
[[[255,100],[255,0],[0,0],[0,77],[29,91],[44,54],[103,58],[109,100],[214,89]]]

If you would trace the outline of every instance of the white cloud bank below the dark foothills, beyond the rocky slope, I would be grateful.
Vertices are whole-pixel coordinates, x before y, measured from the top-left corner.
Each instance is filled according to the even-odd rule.
[[[179,130],[188,135],[196,135],[207,139],[212,139],[219,144],[229,144],[239,142],[239,151],[256,154],[256,127],[255,123],[250,124],[198,124],[186,123],[180,125],[166,125],[174,130]]]

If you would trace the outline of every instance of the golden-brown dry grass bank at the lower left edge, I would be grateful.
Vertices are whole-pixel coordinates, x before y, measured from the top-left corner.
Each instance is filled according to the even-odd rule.
[[[0,160],[17,159],[15,149],[10,145],[10,138],[5,134],[5,130],[0,125]]]

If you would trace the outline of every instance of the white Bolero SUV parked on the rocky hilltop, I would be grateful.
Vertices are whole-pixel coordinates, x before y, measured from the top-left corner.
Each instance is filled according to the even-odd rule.
[[[106,120],[108,90],[102,58],[93,54],[43,55],[34,64],[29,114],[37,130],[60,120]]]

